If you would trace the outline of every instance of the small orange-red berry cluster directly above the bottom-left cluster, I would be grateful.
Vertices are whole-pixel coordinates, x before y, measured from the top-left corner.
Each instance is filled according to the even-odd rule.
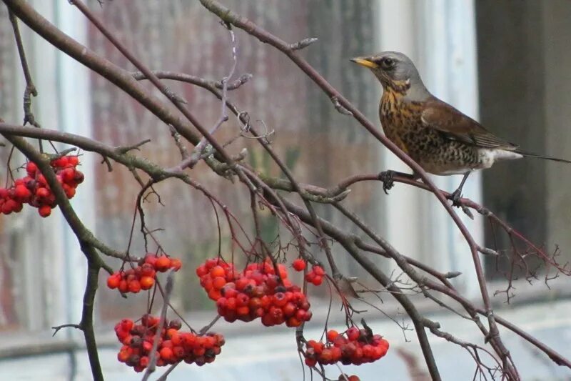
[[[168,269],[178,271],[182,262],[180,259],[170,258],[166,255],[157,257],[153,253],[147,253],[145,258],[134,269],[119,270],[109,275],[107,287],[111,290],[133,292],[136,294],[141,290],[149,290],[155,285],[156,272],[166,272]]]

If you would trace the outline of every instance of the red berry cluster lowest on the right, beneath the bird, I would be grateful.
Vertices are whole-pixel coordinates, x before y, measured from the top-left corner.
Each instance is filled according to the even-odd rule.
[[[305,364],[310,367],[317,363],[330,365],[338,361],[343,365],[361,365],[379,360],[387,351],[388,341],[380,335],[350,327],[344,335],[335,330],[328,331],[326,343],[309,340],[304,355]]]

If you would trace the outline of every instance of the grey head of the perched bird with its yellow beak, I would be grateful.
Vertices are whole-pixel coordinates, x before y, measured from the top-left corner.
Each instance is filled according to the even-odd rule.
[[[383,51],[374,56],[351,59],[356,64],[368,67],[383,84],[383,89],[391,89],[407,93],[408,89],[425,89],[418,70],[413,61],[398,51]]]

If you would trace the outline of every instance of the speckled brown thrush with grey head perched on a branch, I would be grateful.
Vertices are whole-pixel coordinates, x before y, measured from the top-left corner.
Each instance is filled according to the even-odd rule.
[[[460,187],[450,195],[456,205],[470,172],[490,168],[498,160],[537,157],[571,163],[525,152],[517,144],[496,137],[474,119],[434,97],[424,86],[413,61],[405,54],[385,51],[351,61],[368,67],[383,85],[379,114],[388,139],[428,173],[464,175]],[[383,172],[385,191],[392,186],[394,174]],[[418,178],[414,174],[408,176]]]

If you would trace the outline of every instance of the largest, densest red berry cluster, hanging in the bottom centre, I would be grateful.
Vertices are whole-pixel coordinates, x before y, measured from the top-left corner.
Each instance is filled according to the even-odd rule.
[[[291,284],[285,266],[277,267],[279,276],[271,262],[251,263],[237,273],[233,264],[208,259],[196,274],[226,321],[251,322],[261,317],[267,327],[284,322],[298,327],[311,319],[309,302],[300,288]]]

